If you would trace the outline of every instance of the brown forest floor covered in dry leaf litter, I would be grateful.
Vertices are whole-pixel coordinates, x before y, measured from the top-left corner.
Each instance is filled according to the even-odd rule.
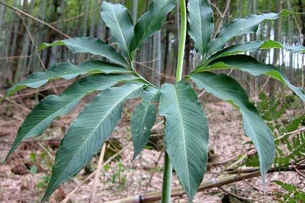
[[[1,92],[3,94],[4,91]],[[249,138],[243,133],[240,114],[233,106],[205,96],[206,94],[201,99],[204,99],[203,106],[209,120],[209,162],[218,163],[246,150],[247,148],[243,144],[249,141]],[[22,97],[23,104],[20,103],[20,99],[14,98],[14,100],[26,108],[32,108],[35,103],[33,98],[26,97]],[[30,142],[23,142],[6,164],[0,165],[0,202],[39,202],[50,175],[59,139],[64,135],[71,119],[77,115],[87,100],[89,98],[85,98],[82,104],[70,115],[60,117],[56,123],[53,122],[42,137],[36,140],[29,140]],[[144,194],[145,191],[161,190],[163,156],[160,156],[160,154],[162,155],[163,153],[162,146],[159,146],[154,141],[151,146],[155,145],[155,147],[144,149],[131,162],[133,147],[128,123],[131,112],[138,102],[138,100],[129,100],[126,103],[127,108],[123,115],[123,120],[119,123],[112,136],[117,139],[107,144],[104,161],[119,150],[121,150],[121,154],[115,161],[103,166],[97,185],[95,202]],[[10,103],[10,101],[4,101],[1,104],[0,160],[3,160],[8,153],[18,127],[28,113],[26,108],[20,108]],[[296,112],[290,111],[287,114],[294,115]],[[160,122],[161,118],[158,119]],[[153,133],[156,138],[158,135],[162,137],[162,128],[163,125],[159,125],[158,129],[154,130]],[[72,201],[70,200],[70,202],[89,202],[94,185],[94,176],[89,179],[87,177],[96,170],[98,159],[99,156],[95,156],[90,164],[87,165],[86,170],[82,170],[74,178],[74,181],[69,181],[60,187],[51,196],[49,202],[62,201],[74,188],[78,189],[72,194]],[[227,164],[209,167],[204,180],[219,177],[226,166]],[[152,179],[149,182],[151,177]],[[85,180],[86,178],[87,180]],[[223,189],[236,193],[250,202],[272,202],[275,198],[273,194],[281,191],[279,186],[271,182],[274,180],[299,184],[300,187],[304,188],[301,178],[295,172],[282,172],[266,176],[265,196],[261,191],[260,178],[229,184],[223,186]],[[174,176],[172,187],[178,186],[178,180]],[[214,188],[198,192],[194,202],[230,202],[224,200],[224,196],[227,195],[226,191],[222,190],[222,188]],[[172,202],[186,202],[186,196],[172,198]]]

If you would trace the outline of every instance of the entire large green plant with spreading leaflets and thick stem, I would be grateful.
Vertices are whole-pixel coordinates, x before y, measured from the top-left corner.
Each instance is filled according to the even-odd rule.
[[[208,123],[198,96],[188,80],[194,81],[199,89],[204,88],[207,92],[228,101],[240,111],[245,133],[252,139],[258,152],[264,186],[265,174],[275,155],[272,133],[238,82],[228,75],[216,75],[210,71],[236,69],[254,76],[267,75],[286,84],[305,100],[303,90],[293,86],[276,67],[262,64],[251,56],[241,54],[269,48],[305,52],[304,47],[290,47],[269,40],[247,42],[225,48],[226,43],[232,38],[255,32],[264,20],[275,20],[292,13],[284,10],[278,14],[250,15],[243,19],[235,19],[225,25],[211,40],[214,24],[208,1],[189,0],[189,35],[203,60],[196,69],[182,79],[187,8],[185,0],[179,0],[181,30],[176,82],[163,84],[159,89],[136,72],[133,58],[142,43],[160,30],[162,22],[175,4],[176,0],[152,1],[148,11],[134,25],[125,7],[104,1],[101,15],[120,52],[93,38],[43,43],[40,48],[67,46],[73,53],[100,55],[110,62],[90,60],[77,65],[69,62],[57,63],[44,73],[33,74],[7,90],[6,96],[9,96],[25,87],[39,88],[53,79],[72,79],[79,75],[89,75],[74,82],[62,94],[49,95],[41,100],[25,118],[8,156],[23,139],[40,136],[53,119],[69,113],[82,97],[100,91],[71,123],[70,129],[60,143],[42,201],[45,201],[60,184],[74,177],[98,152],[120,120],[124,100],[141,97],[142,103],[136,108],[131,121],[134,158],[148,142],[150,129],[156,120],[155,103],[160,101],[159,114],[166,119],[162,201],[170,201],[173,166],[181,186],[188,195],[188,201],[192,202],[206,170]]]

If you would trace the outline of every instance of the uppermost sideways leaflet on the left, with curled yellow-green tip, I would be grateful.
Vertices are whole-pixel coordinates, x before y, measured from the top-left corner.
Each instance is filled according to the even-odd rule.
[[[42,43],[39,49],[54,46],[67,46],[72,53],[90,53],[106,57],[111,62],[119,65],[129,66],[126,60],[111,46],[97,38],[83,37],[55,41],[51,44]]]

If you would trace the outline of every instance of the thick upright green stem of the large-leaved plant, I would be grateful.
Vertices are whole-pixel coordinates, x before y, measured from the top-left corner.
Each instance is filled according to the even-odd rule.
[[[180,26],[180,40],[179,40],[179,50],[178,50],[178,59],[177,59],[177,67],[176,67],[176,81],[175,82],[179,82],[182,78],[184,53],[185,53],[185,45],[186,45],[186,38],[187,38],[186,1],[179,0],[179,4],[180,4],[181,26]],[[163,185],[162,185],[162,203],[170,203],[171,178],[172,178],[172,165],[170,163],[168,154],[165,150]]]

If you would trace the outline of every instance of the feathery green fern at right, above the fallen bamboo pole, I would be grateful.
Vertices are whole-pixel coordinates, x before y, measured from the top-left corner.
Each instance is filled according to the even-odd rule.
[[[275,139],[280,138],[287,132],[297,130],[305,121],[305,114],[297,116],[292,120],[284,120],[282,118],[288,107],[287,104],[296,101],[294,95],[279,95],[278,99],[271,100],[264,93],[260,93],[259,99],[258,109],[272,130]],[[251,144],[251,142],[246,144]],[[289,135],[281,137],[275,141],[275,146],[276,156],[273,164],[276,167],[289,165],[292,161],[305,156],[305,133],[298,132],[293,137]],[[247,157],[242,164],[258,167],[259,160],[257,154]]]

